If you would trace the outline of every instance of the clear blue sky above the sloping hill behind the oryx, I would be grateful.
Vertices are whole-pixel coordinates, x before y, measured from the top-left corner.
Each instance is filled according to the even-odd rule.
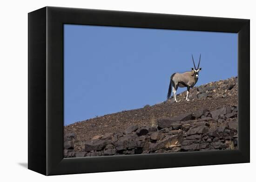
[[[195,86],[237,75],[236,33],[64,25],[64,125],[166,100],[192,53]]]

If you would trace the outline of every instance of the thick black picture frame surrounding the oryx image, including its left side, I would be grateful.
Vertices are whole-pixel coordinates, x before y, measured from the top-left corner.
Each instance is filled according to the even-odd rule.
[[[63,24],[238,33],[238,150],[64,158]],[[48,6],[28,13],[28,169],[48,176],[249,163],[249,32],[249,19]]]

